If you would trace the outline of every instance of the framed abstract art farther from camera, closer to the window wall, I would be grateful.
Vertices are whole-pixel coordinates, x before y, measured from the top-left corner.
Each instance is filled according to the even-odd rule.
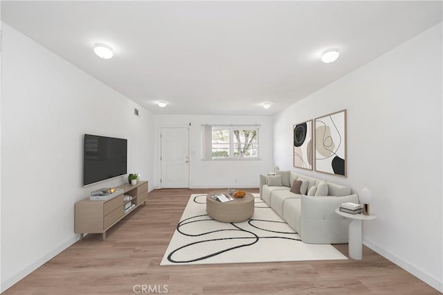
[[[313,161],[312,120],[293,125],[293,166],[312,170]]]

